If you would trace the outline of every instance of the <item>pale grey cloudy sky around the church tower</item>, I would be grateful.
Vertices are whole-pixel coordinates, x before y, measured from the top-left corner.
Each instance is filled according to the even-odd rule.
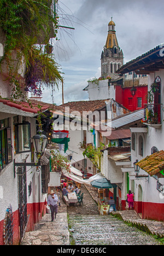
[[[116,36],[124,53],[124,64],[164,42],[163,0],[58,0],[60,25],[53,40],[56,62],[64,73],[64,97],[88,100],[87,80],[101,74],[101,53],[106,44],[108,23],[113,16]],[[43,101],[52,103],[44,90]],[[62,90],[54,92],[54,103],[62,104]]]

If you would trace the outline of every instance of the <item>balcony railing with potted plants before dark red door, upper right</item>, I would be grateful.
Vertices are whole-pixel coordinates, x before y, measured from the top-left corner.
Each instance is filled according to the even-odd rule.
[[[144,122],[147,124],[161,124],[161,105],[146,104],[144,107]]]

